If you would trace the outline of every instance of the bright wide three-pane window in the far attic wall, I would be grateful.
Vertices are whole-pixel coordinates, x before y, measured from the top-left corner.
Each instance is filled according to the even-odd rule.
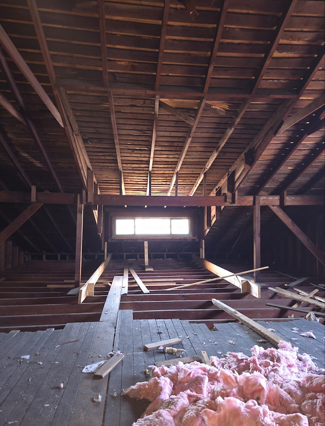
[[[116,217],[115,236],[190,237],[189,217]]]

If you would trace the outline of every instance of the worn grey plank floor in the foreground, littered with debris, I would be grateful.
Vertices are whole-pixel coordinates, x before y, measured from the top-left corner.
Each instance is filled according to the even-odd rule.
[[[324,326],[307,320],[260,322],[308,353],[324,368]],[[312,331],[316,339],[303,337]],[[175,358],[143,345],[180,337],[174,345],[184,356],[206,351],[224,356],[228,351],[251,355],[254,345],[272,347],[239,323],[205,324],[186,320],[133,320],[132,310],[120,310],[114,328],[108,322],[70,323],[62,330],[0,333],[0,425],[21,426],[131,426],[147,406],[121,396],[123,389],[149,380],[145,368]],[[69,342],[74,340],[74,342]],[[103,379],[82,373],[85,365],[120,351],[124,359]],[[29,355],[29,359],[24,356]],[[180,357],[180,360],[182,358]],[[63,384],[63,388],[60,384]],[[102,396],[101,402],[93,398]]]

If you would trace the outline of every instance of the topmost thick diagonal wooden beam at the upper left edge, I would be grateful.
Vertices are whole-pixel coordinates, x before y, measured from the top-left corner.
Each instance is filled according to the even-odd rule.
[[[59,111],[56,109],[56,106],[53,104],[51,99],[48,97],[47,93],[41,86],[38,79],[35,77],[35,75],[32,73],[24,59],[22,58],[21,54],[18,52],[16,47],[14,46],[13,42],[8,37],[7,33],[5,32],[2,25],[0,25],[0,41],[4,48],[7,50],[9,55],[11,56],[12,60],[15,62],[17,67],[20,69],[22,74],[25,76],[27,81],[31,84],[32,88],[36,91],[36,93],[39,95],[39,97],[42,99],[48,110],[51,112],[55,120],[59,123],[61,127],[63,127],[63,122],[60,116]]]

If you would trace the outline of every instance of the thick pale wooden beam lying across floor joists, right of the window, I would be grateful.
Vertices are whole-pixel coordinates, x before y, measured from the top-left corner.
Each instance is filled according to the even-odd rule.
[[[218,265],[215,265],[214,263],[211,263],[205,259],[199,259],[195,257],[195,259],[200,263],[205,269],[208,271],[213,272],[214,274],[218,275],[219,279],[225,279],[226,281],[232,283],[234,286],[241,289],[243,293],[250,293],[252,296],[256,297],[257,299],[261,299],[261,285],[258,285],[257,283],[247,280],[246,278],[240,276],[240,274],[247,274],[250,272],[253,272],[254,269],[251,269],[249,271],[243,271],[239,272],[238,274],[234,274],[224,268],[221,268]],[[268,266],[260,268],[267,269]]]

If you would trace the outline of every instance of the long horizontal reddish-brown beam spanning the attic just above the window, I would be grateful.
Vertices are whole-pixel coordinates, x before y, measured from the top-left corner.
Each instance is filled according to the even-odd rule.
[[[78,194],[37,192],[36,203],[77,204]],[[261,206],[323,206],[322,195],[257,195]],[[30,192],[0,191],[0,203],[30,203]],[[253,195],[241,195],[236,203],[229,203],[224,196],[155,196],[155,195],[110,195],[94,194],[93,204],[99,206],[155,206],[155,207],[204,207],[204,206],[253,206]]]

